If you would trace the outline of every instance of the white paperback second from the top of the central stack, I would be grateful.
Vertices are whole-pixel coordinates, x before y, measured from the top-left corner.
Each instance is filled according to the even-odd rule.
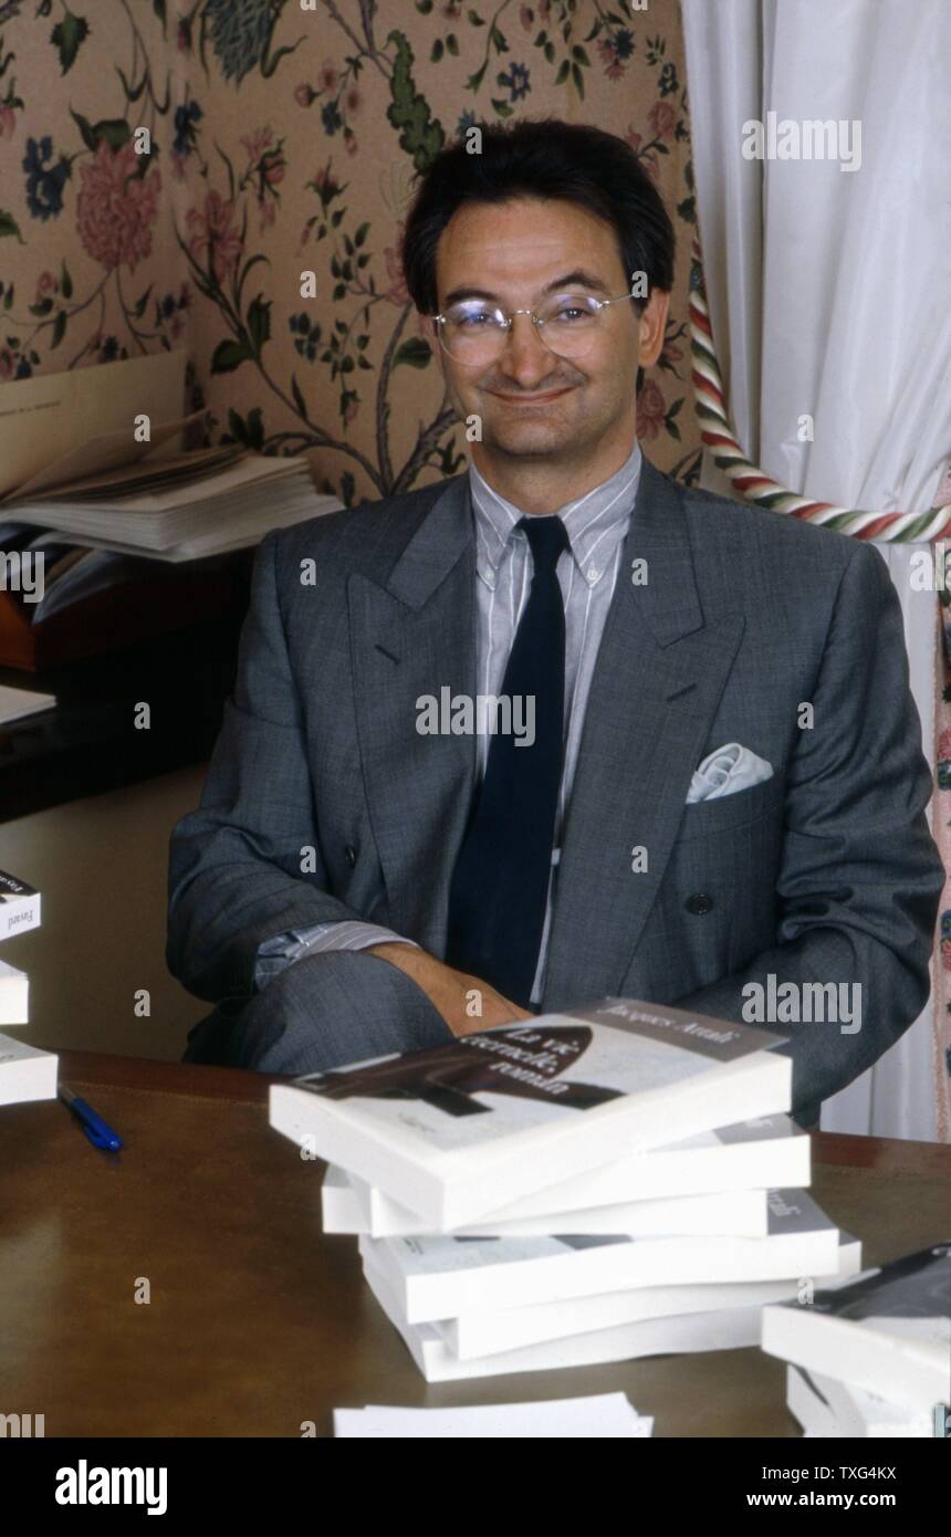
[[[356,1174],[346,1176],[358,1191],[370,1237],[407,1233],[433,1233],[418,1213],[393,1200],[386,1191],[367,1185]],[[548,1185],[498,1211],[485,1213],[482,1223],[515,1222],[521,1217],[548,1217],[552,1213],[582,1211],[628,1200],[662,1200],[670,1196],[701,1196],[730,1190],[804,1188],[811,1182],[810,1137],[790,1116],[757,1116],[733,1127],[698,1131],[684,1140],[668,1142],[645,1153],[628,1153],[610,1164],[585,1170],[573,1179]],[[352,1205],[335,1188],[329,1196],[332,1211],[346,1213]],[[363,1231],[363,1228],[327,1228]],[[515,1231],[515,1230],[510,1230]]]

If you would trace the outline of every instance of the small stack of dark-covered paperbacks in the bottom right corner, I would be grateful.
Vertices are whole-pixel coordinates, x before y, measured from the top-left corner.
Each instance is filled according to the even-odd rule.
[[[951,1242],[764,1308],[807,1436],[951,1436]]]

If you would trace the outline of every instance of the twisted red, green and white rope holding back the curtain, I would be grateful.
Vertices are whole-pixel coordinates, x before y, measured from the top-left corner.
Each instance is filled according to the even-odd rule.
[[[837,507],[831,501],[811,501],[787,490],[757,464],[750,463],[736,441],[727,415],[724,380],[713,346],[704,287],[701,243],[696,235],[690,267],[690,357],[701,437],[711,450],[714,464],[730,476],[747,501],[759,503],[770,512],[791,513],[804,523],[825,524],[839,533],[851,533],[856,539],[908,544],[913,539],[939,539],[948,530],[951,506],[929,507],[928,512],[862,512],[857,507]]]

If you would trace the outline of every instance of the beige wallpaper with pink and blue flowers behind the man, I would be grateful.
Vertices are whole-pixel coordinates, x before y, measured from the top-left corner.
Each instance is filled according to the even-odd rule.
[[[347,503],[456,473],[399,235],[432,155],[516,115],[622,135],[667,200],[639,433],[693,480],[676,0],[0,0],[0,378],[184,346],[209,443],[307,453]]]

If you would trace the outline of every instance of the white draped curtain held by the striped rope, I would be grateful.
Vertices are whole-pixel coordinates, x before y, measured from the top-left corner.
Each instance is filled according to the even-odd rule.
[[[951,452],[949,0],[682,0],[704,275],[748,458],[843,507],[923,512]],[[747,160],[744,123],[859,123],[860,164]],[[854,129],[840,148],[856,157]],[[814,441],[799,441],[802,415]],[[736,495],[704,455],[702,484]],[[770,513],[780,516],[780,513]],[[933,764],[936,598],[902,598]],[[917,546],[920,549],[920,546]],[[931,1010],[822,1128],[934,1137]]]

